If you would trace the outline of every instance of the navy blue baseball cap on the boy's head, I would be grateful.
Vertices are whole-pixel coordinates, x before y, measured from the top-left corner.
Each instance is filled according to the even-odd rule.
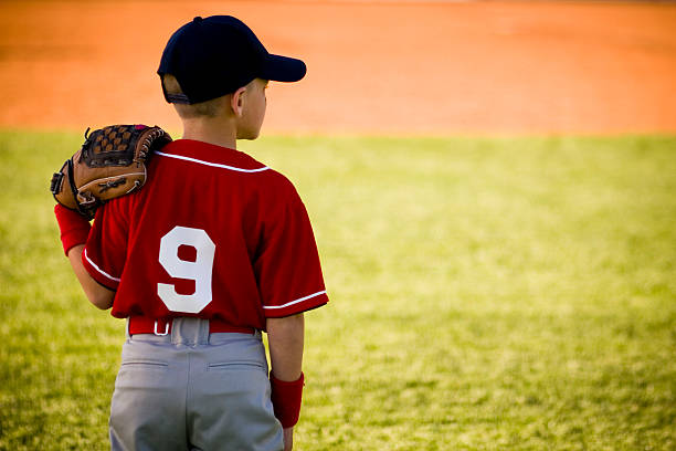
[[[194,18],[169,39],[157,73],[173,75],[183,94],[169,103],[196,104],[235,92],[254,78],[297,82],[305,63],[267,52],[241,20],[231,15]]]

